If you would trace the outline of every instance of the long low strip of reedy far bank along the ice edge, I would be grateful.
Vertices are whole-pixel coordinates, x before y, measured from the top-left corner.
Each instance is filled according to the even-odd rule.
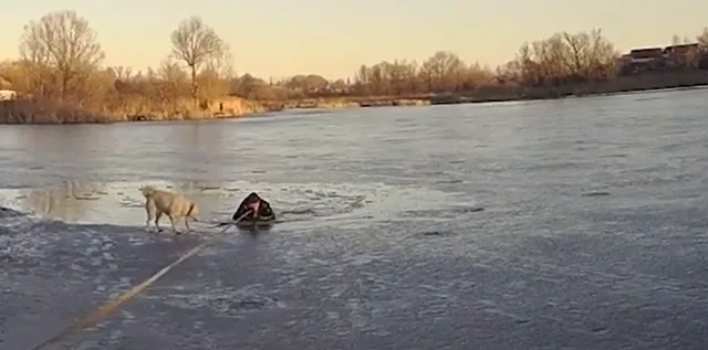
[[[84,105],[83,107],[52,102],[19,99],[0,102],[0,124],[110,124],[205,120],[238,118],[289,109],[339,109],[554,99],[699,86],[708,86],[708,72],[645,74],[616,77],[605,82],[569,84],[555,87],[491,85],[479,86],[470,92],[460,94],[440,95],[342,96],[285,102],[248,100],[229,96],[212,100],[206,108],[205,106],[197,108],[188,99],[155,103],[143,98],[96,104],[98,106]]]

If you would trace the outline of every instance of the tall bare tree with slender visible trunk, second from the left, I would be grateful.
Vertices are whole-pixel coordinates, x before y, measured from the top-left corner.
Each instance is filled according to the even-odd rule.
[[[179,23],[171,34],[173,56],[184,61],[191,75],[191,97],[199,102],[197,73],[209,61],[222,56],[227,50],[223,41],[212,28],[198,17],[191,17]]]

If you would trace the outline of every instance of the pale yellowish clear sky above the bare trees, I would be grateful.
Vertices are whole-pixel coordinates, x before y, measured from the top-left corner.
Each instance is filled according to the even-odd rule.
[[[601,28],[621,51],[694,39],[708,25],[698,0],[24,0],[0,11],[0,60],[19,55],[22,26],[75,10],[98,32],[106,65],[155,66],[180,20],[200,15],[230,44],[239,74],[352,76],[361,64],[418,62],[448,50],[497,65],[524,41]]]

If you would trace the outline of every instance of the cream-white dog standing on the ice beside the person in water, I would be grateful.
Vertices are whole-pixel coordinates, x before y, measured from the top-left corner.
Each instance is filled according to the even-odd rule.
[[[169,218],[175,234],[180,234],[180,232],[175,229],[175,221],[177,219],[185,218],[185,225],[188,232],[191,231],[191,229],[189,229],[189,219],[199,221],[199,208],[183,194],[158,190],[152,185],[142,187],[140,192],[143,192],[146,200],[145,210],[147,211],[147,221],[145,222],[145,227],[148,231],[153,219],[155,219],[155,229],[157,232],[162,231],[158,223],[163,214]]]

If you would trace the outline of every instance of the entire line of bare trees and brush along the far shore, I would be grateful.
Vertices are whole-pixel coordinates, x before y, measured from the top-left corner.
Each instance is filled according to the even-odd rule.
[[[524,43],[512,61],[496,68],[440,51],[420,63],[396,60],[362,65],[353,78],[337,81],[314,74],[277,81],[239,76],[231,66],[230,47],[197,17],[178,23],[166,40],[171,50],[159,66],[146,72],[106,67],[105,52],[90,23],[74,11],[52,12],[24,26],[21,57],[0,66],[0,83],[25,99],[63,108],[173,118],[257,108],[239,97],[287,100],[415,96],[480,86],[543,88],[607,81],[622,71],[620,53],[600,30],[558,33]],[[674,67],[697,67],[695,60],[706,52],[708,31],[697,42],[698,52],[676,61]]]

